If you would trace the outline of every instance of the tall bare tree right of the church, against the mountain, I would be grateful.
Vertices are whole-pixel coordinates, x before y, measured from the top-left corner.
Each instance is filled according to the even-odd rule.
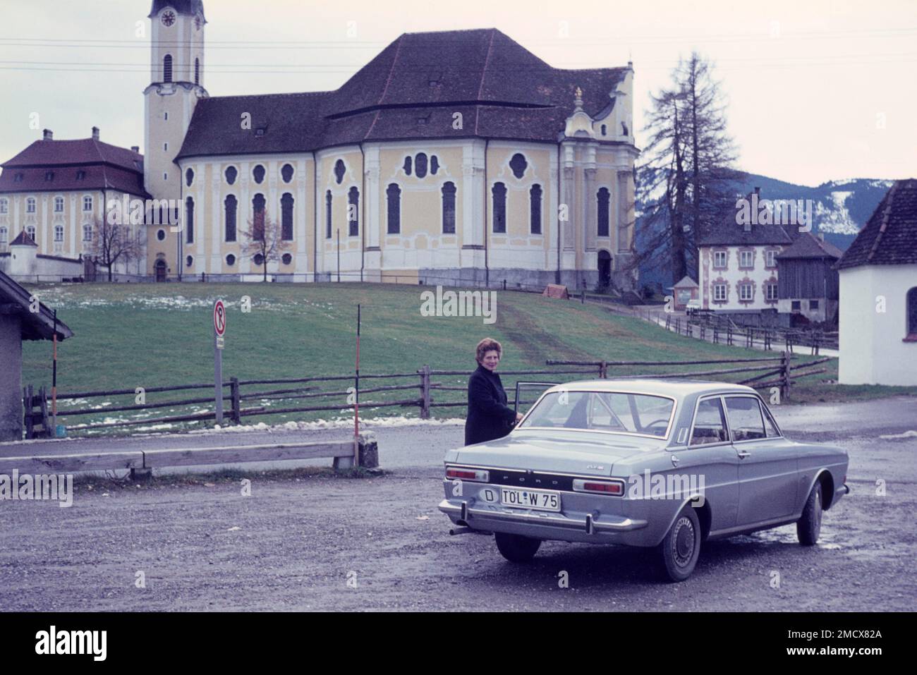
[[[696,52],[671,85],[652,96],[644,157],[636,169],[641,226],[649,234],[636,264],[668,266],[673,282],[697,278],[697,239],[735,205],[735,145],[711,65]]]

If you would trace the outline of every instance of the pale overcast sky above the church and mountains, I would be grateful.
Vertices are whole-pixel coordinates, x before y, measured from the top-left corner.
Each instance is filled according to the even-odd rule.
[[[150,6],[0,2],[0,160],[44,127],[142,146]],[[739,168],[808,185],[917,177],[915,0],[204,0],[204,12],[213,96],[335,89],[403,32],[495,27],[559,68],[634,61],[639,145],[648,95],[699,50]]]

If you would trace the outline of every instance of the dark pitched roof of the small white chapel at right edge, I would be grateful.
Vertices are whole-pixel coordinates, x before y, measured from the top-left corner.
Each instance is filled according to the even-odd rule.
[[[837,269],[908,264],[917,264],[917,179],[913,178],[895,181]]]

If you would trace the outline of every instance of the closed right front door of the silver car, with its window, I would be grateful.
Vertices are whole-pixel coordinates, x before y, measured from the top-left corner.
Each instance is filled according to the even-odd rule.
[[[796,449],[765,427],[753,394],[724,396],[733,447],[739,458],[738,526],[790,515],[796,508]],[[768,421],[769,422],[769,421]],[[768,433],[770,435],[768,435]]]

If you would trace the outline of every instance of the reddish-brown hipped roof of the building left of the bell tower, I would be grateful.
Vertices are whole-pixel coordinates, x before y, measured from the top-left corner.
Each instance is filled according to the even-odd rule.
[[[95,138],[36,140],[0,166],[0,192],[119,190],[149,197],[143,155]]]

